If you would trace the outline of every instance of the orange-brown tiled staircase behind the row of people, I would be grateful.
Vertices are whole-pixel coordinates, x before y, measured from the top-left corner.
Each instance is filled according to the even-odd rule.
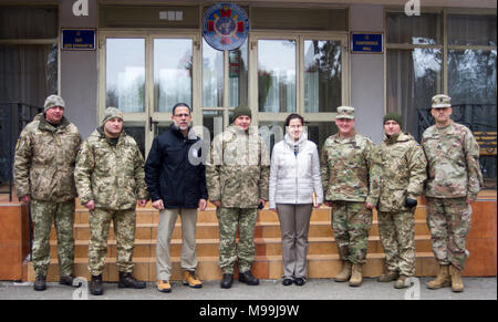
[[[158,211],[152,208],[151,202],[145,208],[137,208],[135,249],[133,260],[135,262],[134,276],[145,281],[156,280],[156,238]],[[180,280],[180,249],[181,227],[180,217],[175,226],[172,239],[172,280]],[[364,267],[365,277],[377,277],[383,271],[384,252],[378,237],[377,216],[374,211],[373,226],[369,237],[367,262]],[[207,210],[199,211],[197,216],[197,257],[199,277],[205,280],[219,280],[221,272],[218,268],[218,220],[216,209],[209,205]],[[74,274],[90,279],[87,269],[87,250],[90,239],[89,211],[82,206],[76,206],[75,225],[75,261]],[[260,279],[279,279],[282,274],[281,239],[278,215],[268,209],[259,211],[255,231],[256,260],[252,272]],[[56,236],[51,232],[51,264],[48,281],[59,281],[59,266],[56,260]],[[434,276],[437,262],[430,248],[430,235],[426,225],[425,205],[419,205],[415,212],[415,250],[416,274]],[[27,264],[29,281],[34,281],[32,263]],[[308,277],[333,278],[341,269],[338,248],[331,227],[331,209],[322,206],[314,209],[311,216],[308,248]],[[116,267],[116,240],[113,226],[108,237],[108,250],[106,267],[103,273],[104,281],[117,281]]]

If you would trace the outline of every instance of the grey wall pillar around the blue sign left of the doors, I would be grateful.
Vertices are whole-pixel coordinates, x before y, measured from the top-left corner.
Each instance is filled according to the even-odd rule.
[[[97,28],[98,3],[89,0],[89,15],[73,14],[74,1],[61,1],[59,24],[61,28]],[[61,51],[61,96],[65,100],[65,115],[86,138],[96,124],[97,104],[97,50]]]

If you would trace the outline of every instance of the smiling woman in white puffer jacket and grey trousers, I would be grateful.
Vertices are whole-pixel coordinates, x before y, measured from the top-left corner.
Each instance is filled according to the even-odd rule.
[[[320,157],[317,145],[308,141],[304,120],[291,114],[287,134],[271,155],[269,207],[277,211],[282,233],[283,285],[303,285],[307,280],[308,230],[313,209],[323,202]]]

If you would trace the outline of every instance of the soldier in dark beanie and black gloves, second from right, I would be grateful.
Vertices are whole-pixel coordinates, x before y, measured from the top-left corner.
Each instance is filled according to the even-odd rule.
[[[408,287],[415,274],[415,208],[427,178],[424,150],[415,138],[402,132],[402,116],[384,116],[384,141],[375,147],[381,193],[377,204],[378,233],[385,252],[386,273],[377,281],[396,280],[394,288]]]

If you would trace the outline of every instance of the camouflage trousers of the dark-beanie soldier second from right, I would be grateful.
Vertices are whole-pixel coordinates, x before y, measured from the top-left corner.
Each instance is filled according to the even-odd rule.
[[[405,277],[415,274],[415,208],[412,211],[378,211],[378,235],[385,267]]]

